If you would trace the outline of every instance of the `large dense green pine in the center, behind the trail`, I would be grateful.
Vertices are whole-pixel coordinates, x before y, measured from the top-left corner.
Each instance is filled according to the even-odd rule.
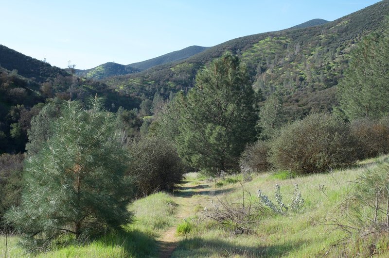
[[[241,152],[255,138],[254,103],[238,57],[226,53],[214,60],[197,74],[196,87],[181,98],[180,157],[208,174],[237,170]]]

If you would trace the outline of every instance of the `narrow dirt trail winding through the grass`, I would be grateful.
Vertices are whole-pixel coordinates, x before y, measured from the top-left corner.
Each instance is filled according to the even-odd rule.
[[[194,214],[194,208],[197,204],[204,202],[204,198],[192,198],[192,196],[195,194],[213,195],[213,193],[214,190],[205,181],[199,181],[197,184],[194,182],[181,184],[179,190],[174,194],[174,202],[177,204],[176,225],[163,232],[158,239],[160,258],[171,257],[178,244],[177,225]]]

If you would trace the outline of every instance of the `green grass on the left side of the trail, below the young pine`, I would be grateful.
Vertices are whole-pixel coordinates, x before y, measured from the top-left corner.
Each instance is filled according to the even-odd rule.
[[[175,223],[176,205],[169,194],[157,193],[130,205],[134,221],[93,242],[58,247],[36,257],[157,257],[156,238]],[[18,237],[9,237],[6,257],[31,257],[18,245]],[[5,237],[0,236],[0,257],[5,257]]]

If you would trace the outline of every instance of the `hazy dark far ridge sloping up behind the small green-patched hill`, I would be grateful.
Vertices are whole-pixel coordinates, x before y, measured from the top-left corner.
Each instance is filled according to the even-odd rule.
[[[206,49],[208,49],[208,47],[191,46],[143,62],[128,64],[128,65],[139,68],[141,70],[146,70],[159,64],[166,64],[166,63],[187,59],[195,54],[203,52]]]

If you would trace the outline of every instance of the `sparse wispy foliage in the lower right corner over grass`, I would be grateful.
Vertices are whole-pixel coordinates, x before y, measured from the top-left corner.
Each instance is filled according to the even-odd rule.
[[[347,244],[348,240],[358,245],[361,253],[366,255],[388,250],[380,246],[388,244],[381,242],[382,238],[387,240],[389,233],[388,171],[388,158],[379,161],[372,169],[365,169],[353,181],[349,196],[339,206],[337,215],[340,216],[326,218],[329,224],[347,233],[347,237],[338,241],[338,244]],[[367,243],[374,247],[366,246]]]

